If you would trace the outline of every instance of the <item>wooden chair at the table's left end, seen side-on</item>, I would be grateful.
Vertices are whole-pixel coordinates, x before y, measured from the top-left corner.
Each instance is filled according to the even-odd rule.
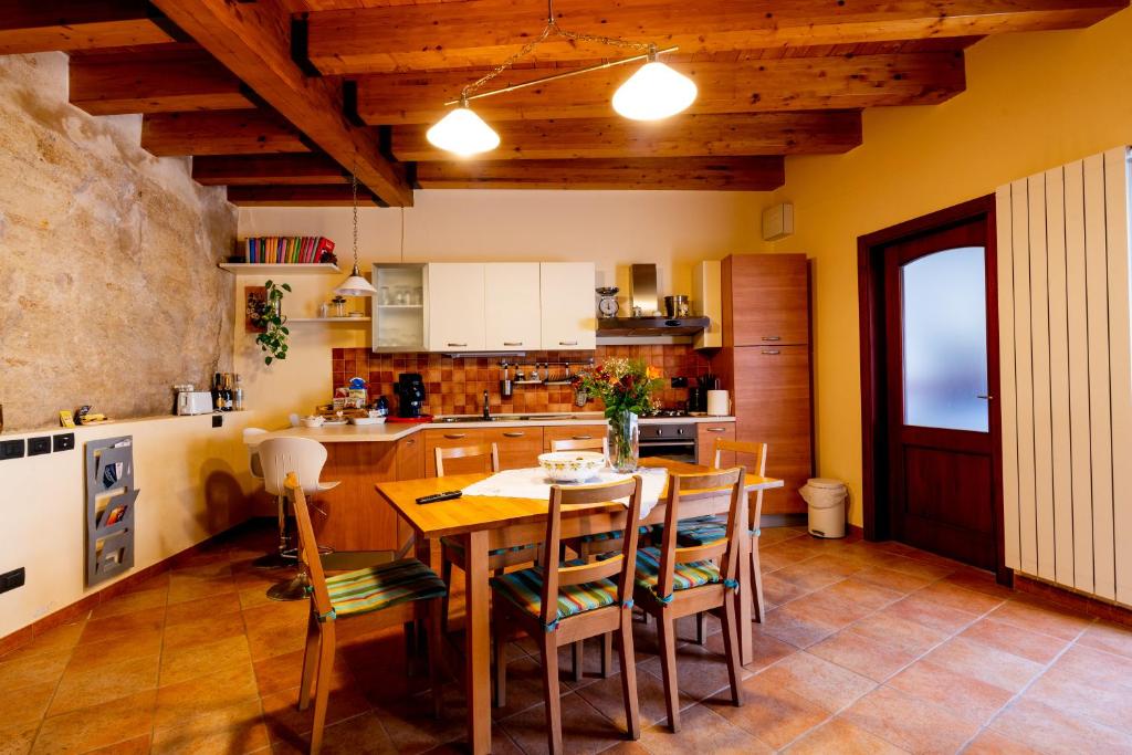
[[[335,625],[351,616],[381,611],[385,616],[381,625],[395,626],[415,620],[421,608],[427,611],[432,712],[439,718],[444,652],[440,637],[440,599],[447,594],[440,577],[415,558],[327,577],[318,556],[318,543],[315,541],[315,530],[310,523],[307,497],[294,473],[286,475],[285,490],[294,506],[299,525],[299,559],[310,581],[310,620],[307,626],[307,647],[302,658],[299,710],[307,710],[314,692],[315,722],[310,733],[311,755],[316,755],[323,746],[326,704],[331,693],[331,671],[334,667]]]

